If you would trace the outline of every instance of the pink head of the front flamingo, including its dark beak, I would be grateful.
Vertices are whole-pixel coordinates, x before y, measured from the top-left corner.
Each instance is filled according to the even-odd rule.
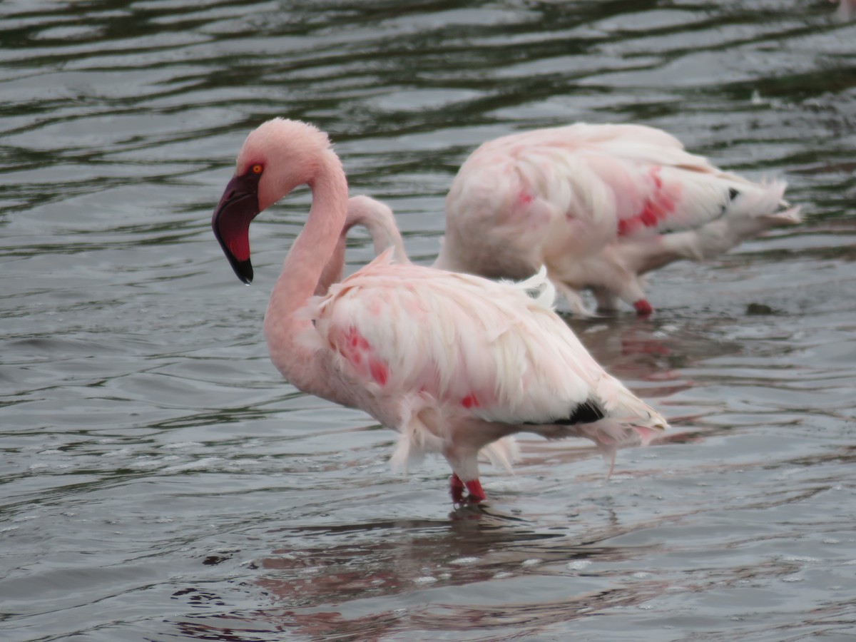
[[[327,135],[300,121],[274,118],[241,146],[235,175],[211,217],[214,235],[242,282],[253,282],[250,223],[294,187],[310,183],[330,149]]]

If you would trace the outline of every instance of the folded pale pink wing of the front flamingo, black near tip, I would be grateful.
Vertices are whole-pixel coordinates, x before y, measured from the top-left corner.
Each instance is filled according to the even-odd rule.
[[[417,391],[455,416],[510,425],[645,417],[650,410],[523,288],[393,266],[389,256],[312,303],[315,331],[335,367],[372,395]]]

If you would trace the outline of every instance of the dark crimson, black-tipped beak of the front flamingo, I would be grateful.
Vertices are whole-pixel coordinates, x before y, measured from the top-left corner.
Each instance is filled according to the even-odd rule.
[[[253,282],[250,263],[250,222],[259,215],[259,176],[234,176],[211,217],[211,227],[223,253],[241,282]]]

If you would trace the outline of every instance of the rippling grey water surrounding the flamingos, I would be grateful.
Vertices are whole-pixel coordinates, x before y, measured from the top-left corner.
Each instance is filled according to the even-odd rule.
[[[856,635],[856,25],[820,0],[0,4],[0,638],[782,640]],[[481,141],[643,122],[784,175],[800,229],[571,321],[674,430],[523,440],[453,509],[394,433],[298,393],[265,302],[306,192],[209,227],[250,128],[318,124],[437,252]],[[355,235],[350,269],[372,255]]]

